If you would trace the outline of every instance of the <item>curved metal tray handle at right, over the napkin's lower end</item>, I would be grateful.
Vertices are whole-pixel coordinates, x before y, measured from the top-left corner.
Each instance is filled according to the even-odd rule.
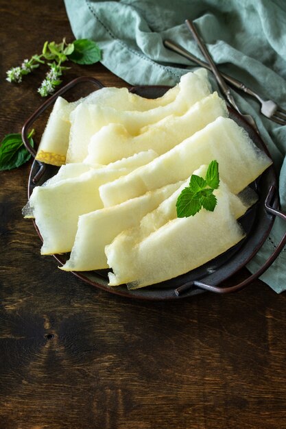
[[[264,203],[265,210],[268,213],[270,213],[274,216],[278,216],[281,219],[283,219],[284,221],[286,221],[285,213],[281,212],[281,210],[276,210],[271,206],[271,202],[272,202],[272,199],[274,197],[275,191],[276,191],[275,187],[270,186],[270,190],[268,191],[268,194],[267,194],[267,197],[266,197],[265,203]],[[285,244],[286,244],[286,232],[283,235],[283,237],[281,238],[281,241],[280,241],[280,243],[278,243],[274,252],[264,262],[262,267],[260,267],[260,269],[256,273],[254,273],[254,274],[250,275],[250,277],[246,278],[246,280],[243,280],[243,282],[235,284],[234,286],[220,287],[220,286],[212,286],[211,284],[200,282],[200,280],[193,280],[192,282],[182,284],[182,286],[179,286],[177,289],[175,289],[175,294],[177,296],[182,295],[182,293],[188,291],[192,287],[197,287],[200,289],[204,289],[205,291],[210,291],[210,292],[215,292],[215,293],[220,293],[220,294],[233,293],[233,292],[240,291],[241,289],[248,286],[248,284],[253,282],[253,280],[256,280],[257,278],[259,278],[260,275],[263,274],[267,270],[267,268],[270,267],[270,265],[272,265],[274,260],[281,253],[281,250],[283,249]]]

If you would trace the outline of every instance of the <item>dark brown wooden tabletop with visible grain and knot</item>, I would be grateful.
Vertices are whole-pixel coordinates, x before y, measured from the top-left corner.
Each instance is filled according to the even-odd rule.
[[[62,1],[1,0],[0,20],[3,138],[42,103],[44,75],[17,86],[5,71],[73,36]],[[78,75],[126,85],[101,64],[64,82]],[[0,428],[286,428],[286,295],[260,280],[180,302],[95,289],[40,256],[21,215],[30,167],[0,173]]]

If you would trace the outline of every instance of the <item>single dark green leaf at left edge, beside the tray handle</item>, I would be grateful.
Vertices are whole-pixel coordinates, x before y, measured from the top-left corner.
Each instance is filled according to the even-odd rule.
[[[34,147],[32,134],[29,133],[29,143]],[[25,148],[21,134],[14,133],[5,136],[0,145],[0,171],[12,170],[20,167],[31,158],[31,154]]]

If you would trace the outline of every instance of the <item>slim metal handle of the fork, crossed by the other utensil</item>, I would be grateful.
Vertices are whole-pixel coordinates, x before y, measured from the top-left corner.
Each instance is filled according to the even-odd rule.
[[[199,66],[204,67],[204,69],[208,69],[211,71],[211,66],[199,58],[195,57],[191,52],[187,51],[187,49],[184,49],[182,46],[178,45],[178,43],[172,42],[169,39],[166,39],[163,41],[163,45],[167,47],[168,49],[171,49],[171,51],[174,51],[181,55],[184,58],[187,58],[187,60],[195,62],[195,64],[198,64]],[[229,84],[235,86],[235,88],[242,90],[244,93],[247,93],[249,95],[252,95],[256,97],[256,94],[253,93],[253,91],[248,88],[243,82],[240,82],[240,80],[235,79],[234,77],[231,77],[229,75],[226,75],[226,73],[223,73],[222,71],[219,72],[224,80],[228,82]]]

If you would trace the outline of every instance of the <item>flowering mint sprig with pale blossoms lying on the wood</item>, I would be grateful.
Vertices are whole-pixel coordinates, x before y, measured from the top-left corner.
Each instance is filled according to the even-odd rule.
[[[47,64],[49,70],[46,73],[38,93],[42,97],[52,94],[56,86],[62,83],[62,73],[69,67],[62,66],[63,62],[72,61],[78,64],[94,64],[101,60],[101,51],[93,40],[80,39],[67,43],[65,38],[62,42],[45,42],[42,53],[35,54],[29,60],[24,60],[21,66],[12,67],[6,72],[8,82],[21,83],[25,75],[28,75],[40,64]]]

